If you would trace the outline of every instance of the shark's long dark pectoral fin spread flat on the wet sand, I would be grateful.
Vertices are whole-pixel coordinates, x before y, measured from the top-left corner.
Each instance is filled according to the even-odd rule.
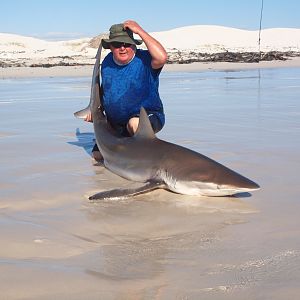
[[[120,199],[137,196],[140,194],[148,193],[156,189],[165,188],[162,182],[149,181],[147,184],[132,189],[115,189],[97,193],[89,197],[89,200],[105,200],[105,199]]]

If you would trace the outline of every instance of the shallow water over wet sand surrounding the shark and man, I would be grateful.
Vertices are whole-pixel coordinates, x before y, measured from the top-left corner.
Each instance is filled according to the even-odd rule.
[[[73,117],[90,78],[0,81],[0,287],[5,299],[296,299],[300,69],[162,73],[159,137],[261,185],[199,198],[133,186],[90,158]],[[17,287],[17,288],[16,288]]]

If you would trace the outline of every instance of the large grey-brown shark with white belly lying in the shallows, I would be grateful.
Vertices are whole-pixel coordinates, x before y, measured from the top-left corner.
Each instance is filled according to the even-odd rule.
[[[100,192],[90,200],[130,197],[157,188],[199,196],[228,196],[259,189],[258,184],[222,164],[157,138],[144,108],[135,135],[117,136],[102,113],[99,86],[99,60],[96,59],[89,109],[104,165],[119,176],[146,184],[138,189]],[[75,116],[85,112],[77,112]]]

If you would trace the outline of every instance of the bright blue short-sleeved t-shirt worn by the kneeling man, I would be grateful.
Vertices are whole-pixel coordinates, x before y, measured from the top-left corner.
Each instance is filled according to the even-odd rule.
[[[157,115],[165,123],[162,101],[159,96],[159,74],[153,69],[147,50],[137,49],[133,60],[124,66],[117,65],[109,53],[101,66],[103,107],[108,121],[125,125],[143,106],[147,113]]]

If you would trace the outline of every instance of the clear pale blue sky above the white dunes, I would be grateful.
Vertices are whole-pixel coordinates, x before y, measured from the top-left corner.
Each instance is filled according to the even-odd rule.
[[[261,0],[1,0],[0,32],[92,37],[134,19],[147,31],[188,25],[259,28]],[[299,0],[264,0],[263,28],[300,28]]]

